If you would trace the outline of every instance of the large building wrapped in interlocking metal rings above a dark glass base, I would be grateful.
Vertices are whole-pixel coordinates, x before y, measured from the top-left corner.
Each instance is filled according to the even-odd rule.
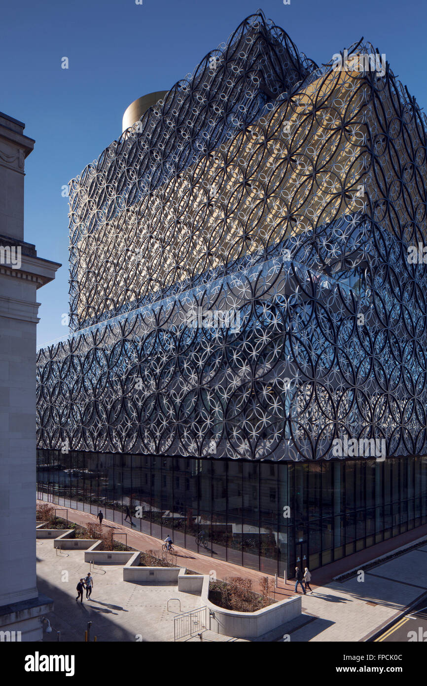
[[[427,521],[426,130],[381,73],[318,68],[258,13],[71,182],[40,490],[271,570]]]

